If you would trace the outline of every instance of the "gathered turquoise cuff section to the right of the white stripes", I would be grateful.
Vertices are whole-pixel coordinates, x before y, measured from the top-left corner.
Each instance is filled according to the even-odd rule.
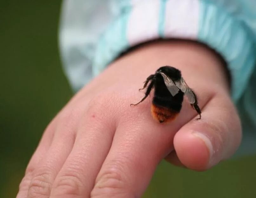
[[[253,36],[222,7],[200,1],[198,39],[227,61],[233,79],[232,96],[237,101],[246,89],[255,66]]]

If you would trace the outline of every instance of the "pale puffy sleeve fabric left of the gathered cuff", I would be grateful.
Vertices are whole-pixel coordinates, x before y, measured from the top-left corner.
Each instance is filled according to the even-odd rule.
[[[78,91],[93,78],[96,46],[102,32],[121,12],[121,1],[65,0],[60,23],[60,49],[64,71]],[[125,2],[125,1],[122,1]]]

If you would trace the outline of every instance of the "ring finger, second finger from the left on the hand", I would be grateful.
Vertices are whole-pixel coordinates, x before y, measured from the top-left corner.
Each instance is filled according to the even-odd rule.
[[[52,184],[74,144],[75,132],[67,133],[61,126],[53,139],[53,143],[43,157],[40,165],[34,170],[28,198],[48,198]]]

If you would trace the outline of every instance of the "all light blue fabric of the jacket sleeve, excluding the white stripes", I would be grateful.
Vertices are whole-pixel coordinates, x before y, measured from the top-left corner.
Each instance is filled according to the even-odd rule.
[[[161,38],[168,0],[159,1]],[[232,75],[232,96],[244,131],[238,154],[256,152],[256,1],[199,1],[198,40],[224,57]],[[64,1],[60,47],[64,69],[75,90],[131,47],[126,29],[131,10],[138,2],[147,3],[143,0]]]

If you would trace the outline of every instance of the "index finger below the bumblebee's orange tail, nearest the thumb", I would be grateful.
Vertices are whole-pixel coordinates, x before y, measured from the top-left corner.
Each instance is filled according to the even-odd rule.
[[[133,122],[120,124],[96,178],[92,198],[142,195],[158,163],[173,149],[177,130],[177,126],[172,128],[148,120],[134,120],[136,125]]]

